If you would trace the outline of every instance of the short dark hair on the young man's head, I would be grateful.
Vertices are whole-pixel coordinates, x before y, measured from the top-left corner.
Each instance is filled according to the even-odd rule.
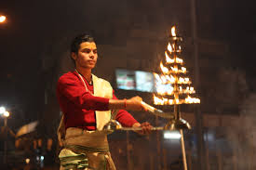
[[[78,36],[76,36],[74,38],[74,40],[72,41],[72,44],[71,44],[71,52],[74,52],[77,54],[79,48],[80,48],[80,44],[81,43],[84,43],[84,42],[95,42],[94,41],[94,38],[88,34],[88,33],[83,33],[83,34],[80,34]]]

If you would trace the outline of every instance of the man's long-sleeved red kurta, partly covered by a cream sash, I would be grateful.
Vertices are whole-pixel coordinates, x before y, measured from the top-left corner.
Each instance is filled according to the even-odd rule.
[[[84,77],[83,77],[84,78]],[[84,78],[88,90],[93,94],[93,85]],[[64,113],[65,128],[79,127],[96,130],[95,111],[108,111],[109,98],[92,96],[80,80],[77,72],[67,72],[61,76],[57,85],[57,98]],[[115,97],[113,91],[113,99]],[[125,110],[119,110],[116,120],[123,126],[132,126],[137,121]]]

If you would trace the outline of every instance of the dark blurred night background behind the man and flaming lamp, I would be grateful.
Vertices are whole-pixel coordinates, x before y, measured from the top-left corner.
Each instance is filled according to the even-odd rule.
[[[113,85],[118,98],[138,95],[153,105],[153,93],[143,87],[118,88],[117,71],[159,72],[173,25],[201,99],[200,105],[181,106],[182,118],[192,125],[184,131],[188,168],[255,169],[255,7],[250,0],[1,2],[1,169],[59,169],[55,90],[61,74],[74,70],[69,47],[75,35],[94,35],[94,73]],[[147,112],[131,114],[154,126],[168,122]],[[175,134],[115,132],[109,141],[118,170],[182,169]]]

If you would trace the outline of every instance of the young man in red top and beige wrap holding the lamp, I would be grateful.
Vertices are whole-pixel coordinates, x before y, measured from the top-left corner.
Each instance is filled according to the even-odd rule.
[[[91,73],[98,59],[94,39],[82,34],[74,38],[71,57],[75,71],[61,76],[57,98],[63,117],[58,137],[64,149],[59,155],[61,169],[115,170],[103,125],[110,121],[111,111],[119,110],[115,119],[123,126],[142,127],[148,134],[151,125],[138,123],[129,113],[146,108],[141,98],[117,99],[109,82]],[[125,109],[125,110],[124,110]]]

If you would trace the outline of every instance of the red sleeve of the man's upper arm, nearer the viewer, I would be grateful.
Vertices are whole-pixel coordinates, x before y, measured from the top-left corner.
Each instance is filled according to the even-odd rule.
[[[61,76],[57,85],[57,93],[67,98],[79,108],[93,111],[108,111],[109,98],[92,96],[74,74]]]

